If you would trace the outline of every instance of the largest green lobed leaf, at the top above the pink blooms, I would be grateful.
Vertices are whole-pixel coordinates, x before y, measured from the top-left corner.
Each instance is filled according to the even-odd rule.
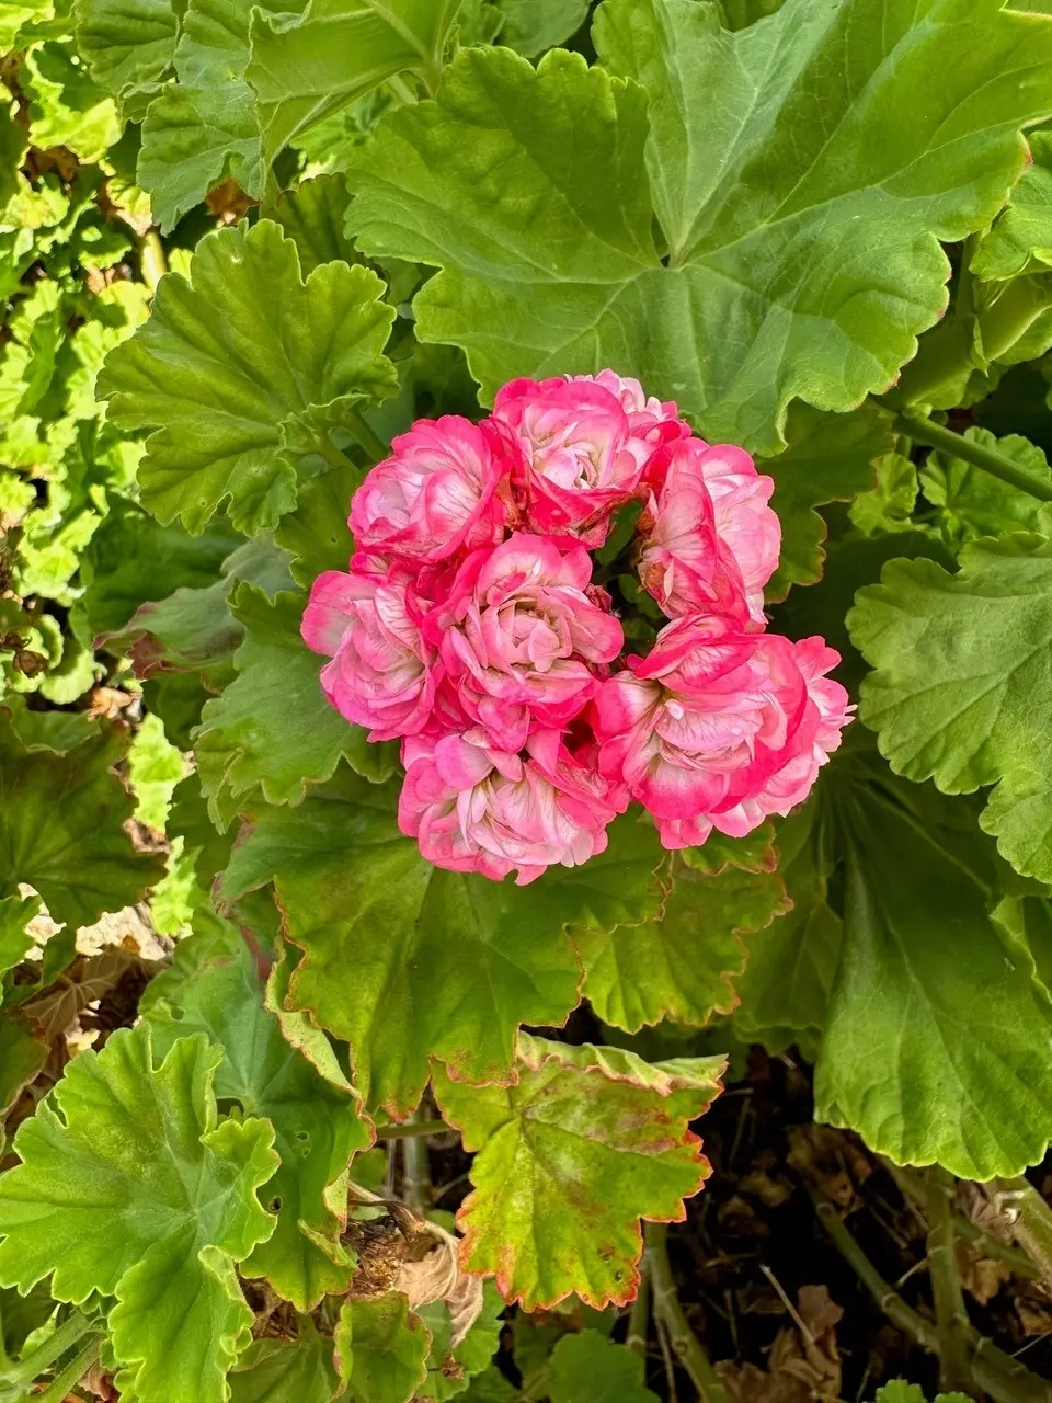
[[[788,0],[736,34],[693,0],[606,0],[593,36],[613,80],[461,52],[351,154],[349,227],[442,269],[418,333],[464,347],[487,396],[616,365],[766,453],[793,398],[888,387],[944,311],[938,240],[993,219],[1052,109],[1052,22],[996,0]]]

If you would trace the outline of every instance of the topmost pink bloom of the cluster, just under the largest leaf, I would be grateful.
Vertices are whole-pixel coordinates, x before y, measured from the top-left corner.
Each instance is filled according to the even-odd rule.
[[[633,497],[652,450],[614,396],[592,380],[512,380],[494,418],[522,448],[518,488],[533,530],[602,546],[610,513]]]

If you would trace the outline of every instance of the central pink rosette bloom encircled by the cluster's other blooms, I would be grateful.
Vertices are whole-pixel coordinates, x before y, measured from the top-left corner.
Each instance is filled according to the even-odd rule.
[[[609,596],[582,544],[515,535],[477,550],[425,623],[466,717],[502,751],[567,725],[621,651]],[[589,592],[591,591],[591,592]]]

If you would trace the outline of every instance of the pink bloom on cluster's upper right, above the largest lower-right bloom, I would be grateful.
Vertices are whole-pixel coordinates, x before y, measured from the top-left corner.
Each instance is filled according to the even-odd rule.
[[[651,466],[661,487],[638,523],[644,586],[672,617],[715,610],[762,629],[781,544],[771,480],[742,449],[700,439],[659,449]]]

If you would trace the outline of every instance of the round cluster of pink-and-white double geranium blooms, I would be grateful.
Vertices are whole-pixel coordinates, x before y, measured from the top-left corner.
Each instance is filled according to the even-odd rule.
[[[807,797],[850,707],[832,648],[764,631],[771,490],[612,370],[513,380],[481,424],[394,441],[303,637],[331,703],[401,738],[398,824],[425,857],[527,882],[600,853],[633,800],[686,847]],[[670,619],[645,658],[623,657],[589,554],[634,499],[638,577]]]

